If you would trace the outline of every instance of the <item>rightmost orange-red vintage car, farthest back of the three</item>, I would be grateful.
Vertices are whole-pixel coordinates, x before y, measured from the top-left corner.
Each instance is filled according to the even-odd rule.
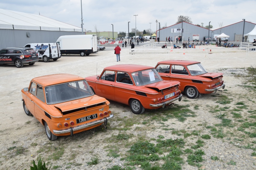
[[[225,88],[223,73],[208,73],[200,62],[166,60],[158,62],[155,68],[164,80],[179,81],[180,90],[190,99],[199,93],[209,94]]]

